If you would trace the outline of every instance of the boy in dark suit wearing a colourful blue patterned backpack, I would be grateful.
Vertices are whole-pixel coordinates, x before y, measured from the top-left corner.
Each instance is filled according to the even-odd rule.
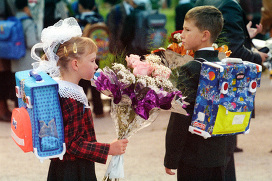
[[[204,58],[210,62],[220,61],[218,51],[212,44],[223,27],[221,12],[213,6],[195,7],[185,16],[182,43],[187,50],[194,50],[194,58]],[[200,61],[191,61],[180,68],[177,88],[187,98],[185,101],[189,116],[171,113],[166,132],[166,173],[174,175],[177,169],[178,180],[224,180],[226,164],[226,137],[204,139],[188,131],[191,123],[196,92],[201,70]]]

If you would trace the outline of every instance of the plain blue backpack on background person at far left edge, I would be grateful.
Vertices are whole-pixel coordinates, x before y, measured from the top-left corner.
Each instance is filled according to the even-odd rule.
[[[0,20],[0,58],[20,59],[25,56],[26,45],[21,23],[25,19],[30,19],[30,17],[12,16],[7,20]]]

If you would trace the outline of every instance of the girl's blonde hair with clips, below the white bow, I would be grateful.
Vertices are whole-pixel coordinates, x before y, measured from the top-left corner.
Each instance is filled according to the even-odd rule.
[[[67,69],[67,64],[73,60],[80,58],[84,54],[97,53],[97,46],[92,39],[87,37],[73,37],[69,41],[60,44],[57,56],[59,57],[58,66],[60,72]]]

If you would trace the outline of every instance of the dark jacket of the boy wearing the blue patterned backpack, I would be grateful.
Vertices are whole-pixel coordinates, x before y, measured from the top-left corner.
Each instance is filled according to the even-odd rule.
[[[218,51],[196,51],[196,58],[217,62]],[[190,61],[181,67],[177,87],[187,96],[190,103],[189,116],[171,113],[166,133],[166,154],[164,165],[176,169],[179,162],[196,167],[221,167],[227,159],[227,139],[225,136],[204,139],[188,131],[191,124],[196,92],[199,83],[201,63]]]

